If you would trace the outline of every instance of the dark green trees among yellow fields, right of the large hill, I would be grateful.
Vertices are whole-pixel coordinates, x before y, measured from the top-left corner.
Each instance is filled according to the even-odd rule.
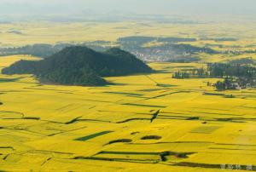
[[[212,63],[208,64],[207,68],[175,72],[172,77],[178,79],[191,77],[224,78],[224,81],[218,81],[214,84],[218,90],[256,87],[256,67],[248,65]]]

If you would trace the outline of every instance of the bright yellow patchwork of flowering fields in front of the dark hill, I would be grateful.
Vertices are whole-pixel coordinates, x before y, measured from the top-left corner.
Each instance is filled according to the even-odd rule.
[[[0,58],[0,66],[31,56]],[[108,77],[104,87],[42,85],[0,74],[0,170],[256,170],[256,90],[217,92],[216,79],[174,79],[204,64]],[[224,95],[235,95],[227,98]]]

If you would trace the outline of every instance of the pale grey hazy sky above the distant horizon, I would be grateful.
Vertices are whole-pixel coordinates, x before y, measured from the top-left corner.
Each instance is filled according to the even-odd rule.
[[[0,0],[2,14],[256,14],[256,0]]]

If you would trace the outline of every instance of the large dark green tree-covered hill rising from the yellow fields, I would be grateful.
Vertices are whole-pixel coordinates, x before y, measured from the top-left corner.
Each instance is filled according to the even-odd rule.
[[[134,55],[113,48],[101,53],[87,47],[68,47],[40,61],[20,60],[3,74],[34,74],[42,83],[100,86],[102,77],[153,72]]]

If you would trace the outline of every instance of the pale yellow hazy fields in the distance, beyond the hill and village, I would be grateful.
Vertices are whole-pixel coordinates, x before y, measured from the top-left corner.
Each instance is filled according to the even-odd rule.
[[[85,41],[116,41],[119,37],[192,37],[196,46],[217,50],[255,49],[255,22],[200,22],[172,24],[148,21],[55,23],[15,22],[0,25],[0,46],[13,47],[34,43],[79,43]],[[216,41],[212,38],[236,38],[237,41]],[[220,46],[219,46],[220,45]]]

